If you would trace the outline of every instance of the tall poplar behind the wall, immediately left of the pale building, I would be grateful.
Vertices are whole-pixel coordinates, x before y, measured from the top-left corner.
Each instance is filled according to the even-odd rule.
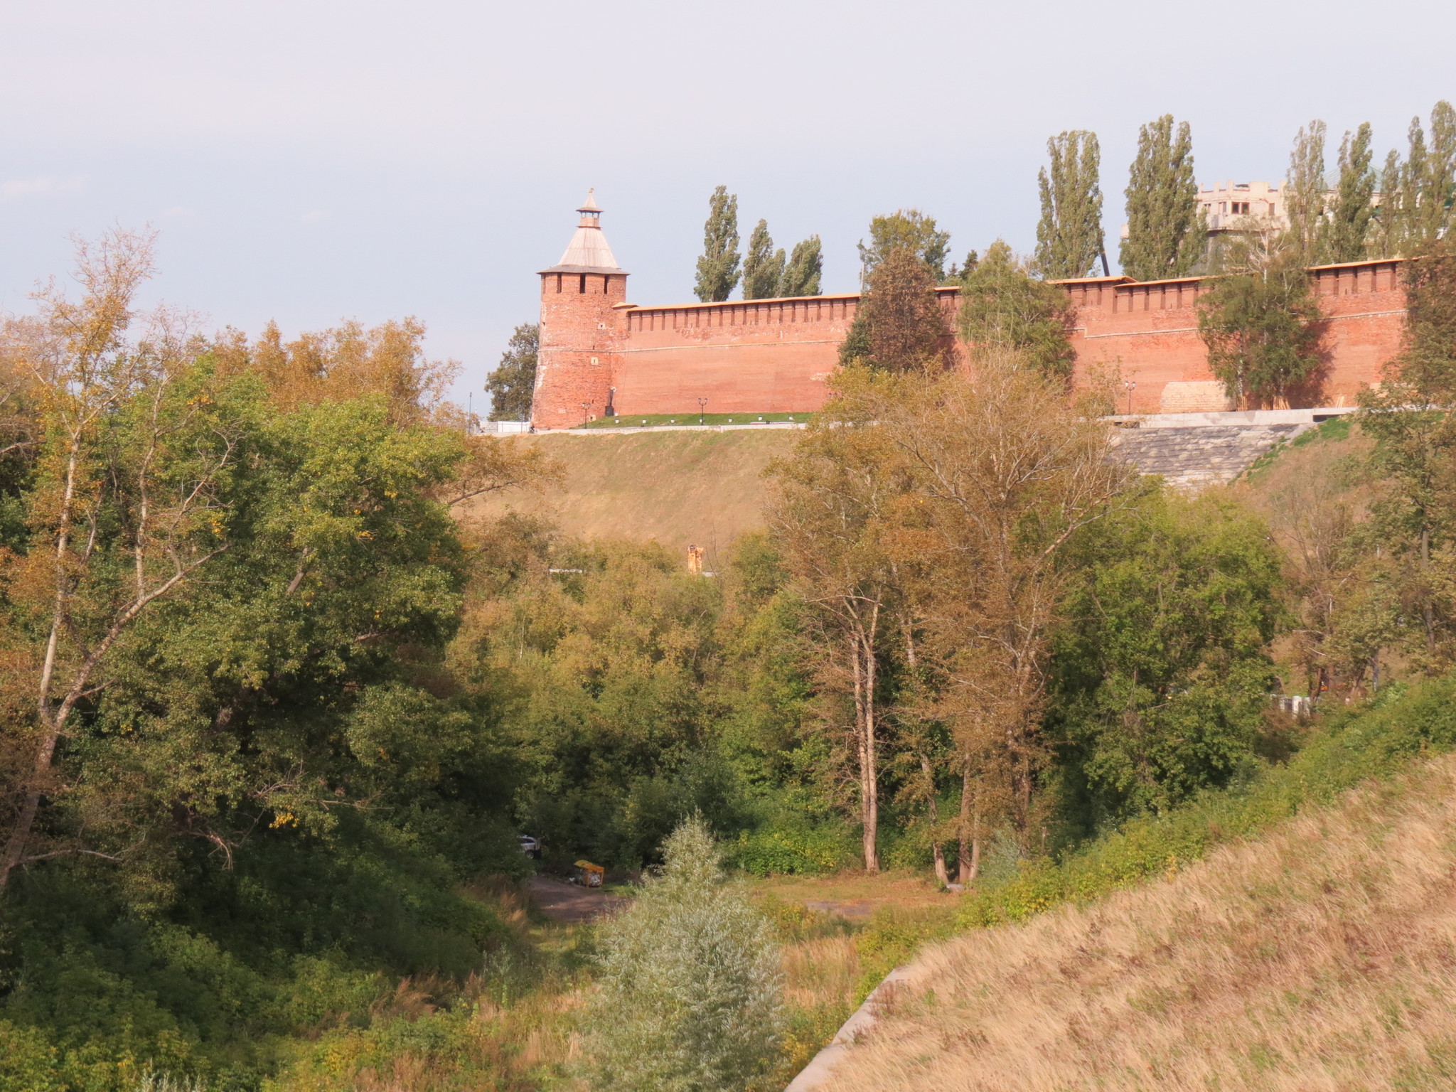
[[[1192,173],[1188,122],[1165,114],[1142,127],[1127,182],[1123,272],[1139,281],[1185,277],[1204,252],[1204,215]]]

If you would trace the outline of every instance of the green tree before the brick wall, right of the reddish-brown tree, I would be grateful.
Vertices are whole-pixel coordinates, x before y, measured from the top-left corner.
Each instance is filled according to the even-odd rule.
[[[1047,376],[1072,374],[1066,293],[1035,280],[1003,240],[962,278],[961,297],[961,336],[973,354],[1015,354]]]

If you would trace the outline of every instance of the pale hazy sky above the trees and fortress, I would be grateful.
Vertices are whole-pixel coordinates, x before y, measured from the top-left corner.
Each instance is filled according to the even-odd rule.
[[[1372,122],[1379,162],[1456,99],[1449,1],[0,0],[0,310],[74,236],[151,226],[149,300],[249,333],[415,316],[476,409],[588,186],[635,303],[692,298],[715,185],[853,291],[895,208],[957,258],[1029,250],[1063,130],[1099,137],[1115,240],[1160,114],[1207,183],[1281,178],[1312,118]]]

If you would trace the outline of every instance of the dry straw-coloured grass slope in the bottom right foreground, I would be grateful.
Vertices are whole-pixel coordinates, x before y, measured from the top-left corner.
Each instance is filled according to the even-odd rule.
[[[827,1092],[1456,1085],[1456,756],[929,949]]]

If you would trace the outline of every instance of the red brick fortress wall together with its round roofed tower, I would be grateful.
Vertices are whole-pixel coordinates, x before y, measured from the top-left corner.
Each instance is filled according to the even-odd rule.
[[[531,412],[537,428],[569,428],[617,414],[796,412],[824,403],[824,380],[849,332],[859,294],[638,307],[628,274],[601,236],[588,198],[559,265],[543,269],[542,347]],[[1398,261],[1309,271],[1326,314],[1321,405],[1353,405],[1395,355],[1405,316]],[[1076,307],[1077,374],[1115,373],[1136,384],[1134,412],[1227,408],[1208,371],[1194,304],[1197,278],[1063,281]],[[955,288],[941,288],[948,313]],[[1120,400],[1120,409],[1127,402]]]

